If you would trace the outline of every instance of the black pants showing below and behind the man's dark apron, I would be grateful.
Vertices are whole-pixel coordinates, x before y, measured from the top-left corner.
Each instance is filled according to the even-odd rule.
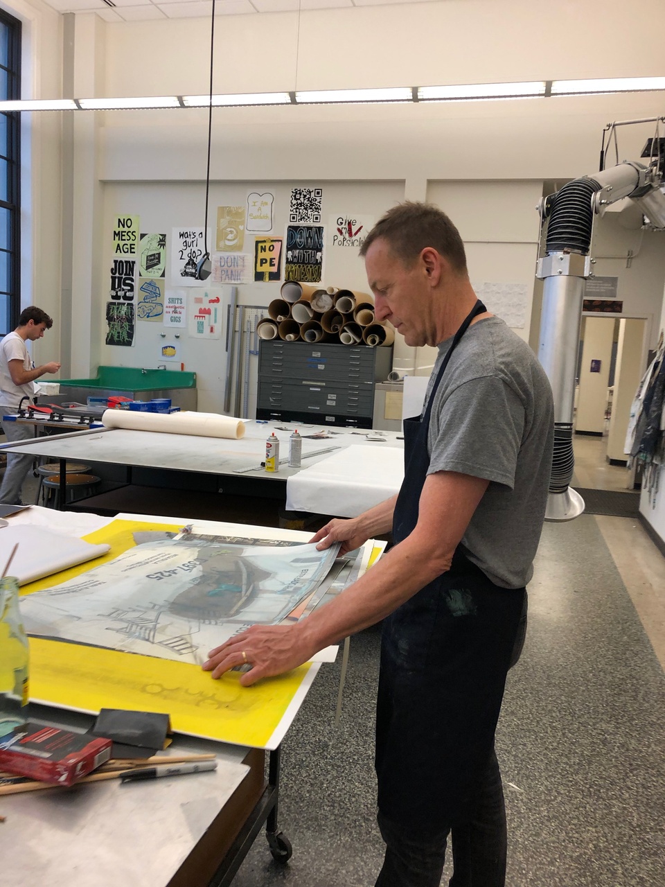
[[[509,667],[518,659],[527,630],[527,597]],[[492,747],[476,774],[472,803],[465,818],[450,821],[434,834],[389,820],[379,811],[386,856],[376,887],[439,887],[447,839],[452,833],[454,875],[450,887],[504,887],[507,851],[504,792]]]

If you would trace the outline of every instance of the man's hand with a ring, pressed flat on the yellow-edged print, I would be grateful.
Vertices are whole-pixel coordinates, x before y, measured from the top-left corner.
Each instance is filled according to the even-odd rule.
[[[316,652],[309,648],[297,625],[252,625],[246,632],[210,650],[203,671],[212,671],[212,677],[217,679],[236,665],[249,663],[252,669],[242,675],[240,683],[251,687],[257,680],[291,671],[308,662]]]

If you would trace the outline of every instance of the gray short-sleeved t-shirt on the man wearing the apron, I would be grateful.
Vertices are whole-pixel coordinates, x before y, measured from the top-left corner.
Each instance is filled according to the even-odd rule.
[[[439,345],[427,398],[450,341]],[[434,395],[428,474],[458,471],[489,481],[462,545],[496,585],[520,588],[533,574],[553,435],[552,390],[533,351],[503,320],[478,320]]]

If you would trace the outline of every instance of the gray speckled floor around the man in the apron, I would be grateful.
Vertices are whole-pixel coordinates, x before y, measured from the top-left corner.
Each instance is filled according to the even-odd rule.
[[[286,867],[257,838],[234,887],[368,887],[372,715],[379,631],[325,665],[283,745]],[[509,817],[509,887],[665,884],[665,676],[591,515],[546,524],[529,588],[528,639],[497,734]],[[447,876],[442,883],[448,883]]]

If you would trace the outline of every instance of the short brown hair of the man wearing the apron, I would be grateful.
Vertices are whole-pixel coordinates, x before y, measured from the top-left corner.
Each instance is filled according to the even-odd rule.
[[[430,203],[408,200],[388,209],[367,235],[360,255],[366,255],[379,238],[386,240],[405,265],[414,263],[426,247],[433,247],[448,259],[453,271],[466,273],[466,254],[458,229],[441,209]]]

